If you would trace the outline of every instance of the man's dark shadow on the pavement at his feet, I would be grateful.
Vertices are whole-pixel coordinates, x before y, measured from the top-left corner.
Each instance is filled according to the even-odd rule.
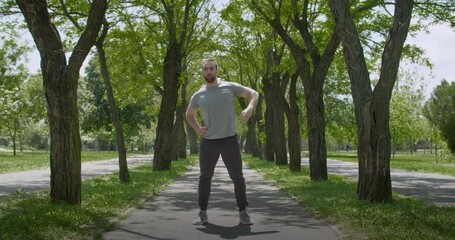
[[[262,231],[262,232],[251,232],[251,225],[239,224],[232,227],[219,226],[211,223],[201,225],[203,228],[196,228],[205,234],[219,235],[223,239],[236,239],[240,236],[250,235],[261,235],[261,234],[273,234],[279,231]]]

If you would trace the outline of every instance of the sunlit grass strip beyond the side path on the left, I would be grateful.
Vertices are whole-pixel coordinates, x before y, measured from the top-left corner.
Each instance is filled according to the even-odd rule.
[[[0,174],[49,168],[49,154],[49,151],[40,150],[18,151],[16,156],[11,152],[0,152]],[[116,151],[82,151],[81,158],[82,162],[114,159],[118,158],[118,153]]]

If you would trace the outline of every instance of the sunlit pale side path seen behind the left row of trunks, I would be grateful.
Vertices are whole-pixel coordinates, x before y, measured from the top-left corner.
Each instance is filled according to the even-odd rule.
[[[128,168],[151,163],[152,155],[128,157]],[[82,179],[118,171],[118,159],[82,163]],[[151,165],[150,165],[151,167]],[[50,188],[50,169],[30,170],[0,174],[0,196],[17,190],[25,192],[41,191]]]

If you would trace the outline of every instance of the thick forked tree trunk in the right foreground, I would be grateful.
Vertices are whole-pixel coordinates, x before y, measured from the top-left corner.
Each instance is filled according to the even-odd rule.
[[[389,103],[403,45],[412,17],[412,0],[397,0],[393,26],[382,56],[381,73],[374,91],[348,0],[331,0],[336,32],[343,44],[358,134],[359,182],[357,196],[371,202],[392,200],[390,179]]]

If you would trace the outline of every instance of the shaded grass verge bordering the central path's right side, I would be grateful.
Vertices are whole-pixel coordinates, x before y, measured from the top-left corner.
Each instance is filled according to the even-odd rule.
[[[308,169],[292,173],[288,166],[244,159],[315,216],[338,225],[344,239],[455,239],[455,207],[429,205],[395,193],[389,204],[359,201],[352,179],[330,176],[329,181],[313,182]]]

